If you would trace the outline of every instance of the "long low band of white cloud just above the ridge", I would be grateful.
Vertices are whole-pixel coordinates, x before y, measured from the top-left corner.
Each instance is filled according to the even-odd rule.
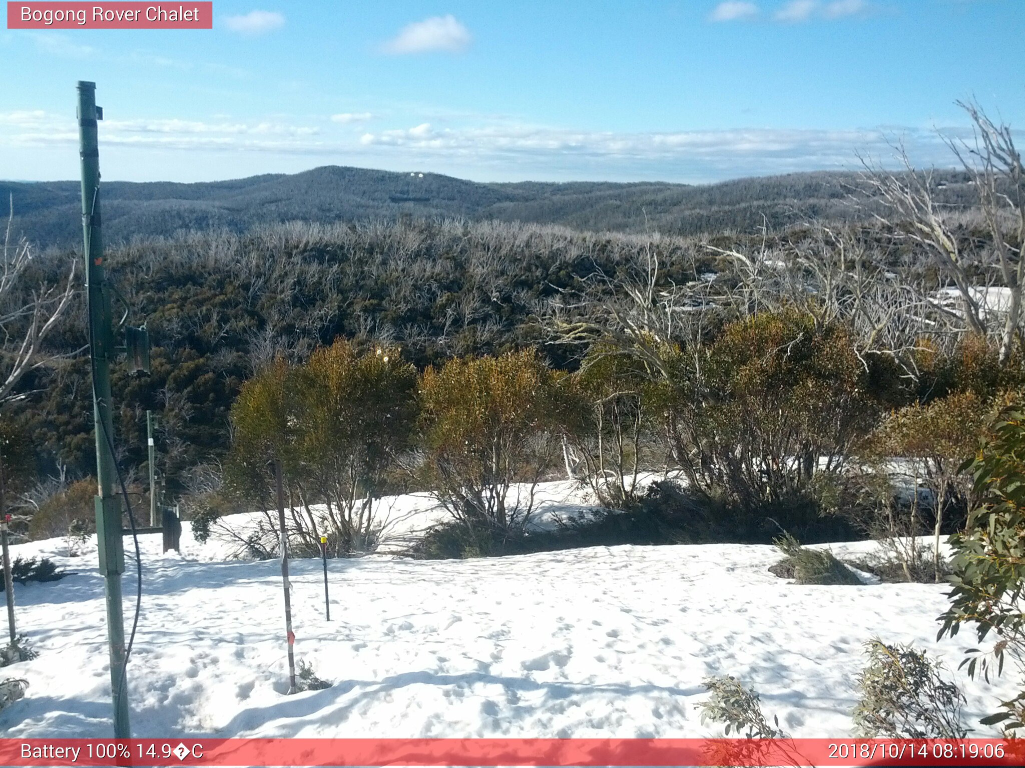
[[[969,128],[947,135],[970,138]],[[304,158],[308,165],[342,163],[372,168],[422,167],[461,176],[524,178],[640,178],[702,181],[768,173],[857,167],[855,152],[883,160],[893,156],[901,136],[921,166],[951,165],[949,148],[932,130],[900,126],[845,130],[744,129],[722,131],[611,132],[524,125],[487,120],[450,127],[411,123],[394,130],[322,135],[313,126],[287,119],[208,120],[138,118],[107,120],[101,140],[131,157],[203,151],[204,160],[181,159],[187,175],[202,176],[210,163],[230,162],[236,153]],[[74,114],[19,110],[0,113],[0,156],[29,148],[74,147]],[[128,156],[122,156],[128,157]],[[137,161],[133,161],[137,162]]]

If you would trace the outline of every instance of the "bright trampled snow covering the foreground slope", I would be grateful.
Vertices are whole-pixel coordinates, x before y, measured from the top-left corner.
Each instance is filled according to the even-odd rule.
[[[555,485],[546,488],[552,499]],[[416,517],[423,497],[402,502]],[[552,502],[555,504],[555,502]],[[145,594],[129,667],[138,736],[706,736],[701,679],[752,683],[795,736],[851,730],[862,643],[914,642],[944,657],[979,717],[1012,691],[952,672],[969,633],[935,641],[936,585],[801,587],[767,567],[772,547],[615,547],[462,561],[293,560],[297,659],[332,688],[284,695],[280,564],[218,558],[186,524],[182,554],[141,537]],[[125,540],[126,549],[130,539]],[[837,554],[870,543],[833,545]],[[0,673],[29,680],[0,713],[10,737],[110,736],[104,584],[95,548],[14,547],[74,572],[16,587],[37,659]],[[129,571],[131,564],[129,564]],[[130,622],[134,579],[124,580]]]

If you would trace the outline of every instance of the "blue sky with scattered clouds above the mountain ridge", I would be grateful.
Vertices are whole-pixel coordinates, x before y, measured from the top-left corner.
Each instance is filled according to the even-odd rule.
[[[0,178],[338,164],[475,180],[706,182],[950,165],[976,96],[1025,126],[1021,0],[215,0],[208,31],[0,30]],[[970,134],[969,134],[970,135]]]

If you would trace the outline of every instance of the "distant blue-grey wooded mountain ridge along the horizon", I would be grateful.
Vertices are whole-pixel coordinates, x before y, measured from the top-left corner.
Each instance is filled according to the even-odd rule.
[[[962,181],[943,172],[952,186]],[[795,173],[716,184],[522,181],[481,183],[436,173],[411,176],[343,166],[230,181],[110,181],[101,186],[105,236],[168,236],[179,229],[240,231],[292,219],[318,222],[464,217],[577,229],[698,233],[749,231],[808,218],[846,219],[854,174]],[[967,179],[963,179],[967,180]],[[950,189],[951,193],[954,189]],[[949,193],[948,193],[949,194]],[[69,247],[82,237],[79,182],[0,181],[13,199],[15,231],[40,246]],[[6,206],[4,206],[6,207]]]

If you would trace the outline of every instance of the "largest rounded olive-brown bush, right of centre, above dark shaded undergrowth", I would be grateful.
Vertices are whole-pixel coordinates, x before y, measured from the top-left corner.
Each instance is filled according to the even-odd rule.
[[[691,485],[747,511],[814,527],[817,490],[838,476],[878,411],[870,375],[843,326],[796,310],[726,326],[672,355],[665,384],[673,458]]]

